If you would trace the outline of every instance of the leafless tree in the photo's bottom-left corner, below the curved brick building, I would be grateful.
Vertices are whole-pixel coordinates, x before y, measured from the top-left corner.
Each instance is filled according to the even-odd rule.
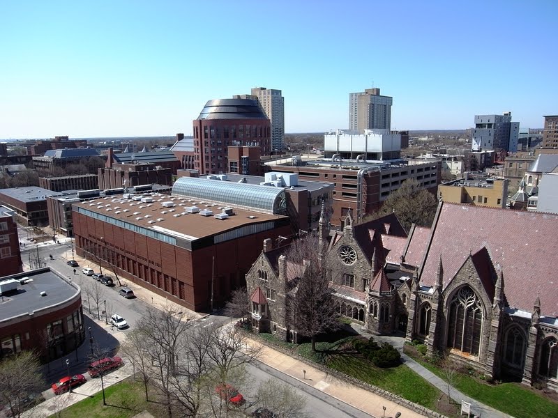
[[[12,417],[20,417],[24,399],[38,394],[43,386],[40,363],[35,353],[24,351],[0,363],[0,400]]]

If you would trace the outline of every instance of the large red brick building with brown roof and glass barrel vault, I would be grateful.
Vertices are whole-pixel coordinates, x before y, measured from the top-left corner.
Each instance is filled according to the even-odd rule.
[[[77,254],[194,311],[222,307],[265,238],[291,234],[285,190],[179,178],[172,196],[122,194],[73,205]]]

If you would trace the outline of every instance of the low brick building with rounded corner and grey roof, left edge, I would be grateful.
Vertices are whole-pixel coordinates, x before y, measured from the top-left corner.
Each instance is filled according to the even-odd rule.
[[[80,286],[50,268],[2,277],[0,283],[15,288],[2,293],[11,303],[0,306],[0,358],[34,349],[50,362],[84,341]]]

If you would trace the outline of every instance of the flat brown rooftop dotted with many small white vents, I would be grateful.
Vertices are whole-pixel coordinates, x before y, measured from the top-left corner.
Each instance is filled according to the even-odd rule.
[[[153,201],[142,202],[140,200],[142,197],[151,198]],[[163,206],[164,202],[172,202],[174,206],[165,207]],[[187,208],[192,206],[197,207],[200,212],[211,210],[212,214],[204,216],[199,212],[187,212]],[[283,221],[288,224],[289,222],[289,217],[287,216],[238,208],[234,205],[230,206],[234,215],[229,216],[228,219],[217,219],[214,215],[223,212],[225,207],[229,206],[224,206],[223,203],[200,201],[199,198],[195,199],[188,196],[168,196],[147,192],[130,195],[129,198],[125,198],[121,194],[91,199],[75,203],[73,210],[126,229],[135,230],[143,235],[155,236],[156,233],[168,235],[176,238],[175,245],[190,249],[192,248],[191,242],[213,235],[224,234],[220,238],[215,238],[214,242],[232,239],[234,237],[231,235],[231,238],[228,238],[226,233],[241,229],[242,227],[254,226],[255,228],[249,228],[241,233],[241,235],[238,235],[240,232],[236,231],[235,237],[273,229],[273,226],[269,228],[262,226],[258,229],[257,226],[259,224],[266,224],[267,222],[275,224],[276,221]],[[141,229],[138,230],[137,226],[140,226]],[[207,240],[204,240],[204,242],[207,242]]]

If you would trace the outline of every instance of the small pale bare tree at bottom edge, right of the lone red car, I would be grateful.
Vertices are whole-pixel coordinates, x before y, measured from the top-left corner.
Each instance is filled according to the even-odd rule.
[[[286,383],[276,379],[269,379],[259,385],[257,389],[257,405],[273,412],[277,418],[308,417],[306,396],[296,392]]]

